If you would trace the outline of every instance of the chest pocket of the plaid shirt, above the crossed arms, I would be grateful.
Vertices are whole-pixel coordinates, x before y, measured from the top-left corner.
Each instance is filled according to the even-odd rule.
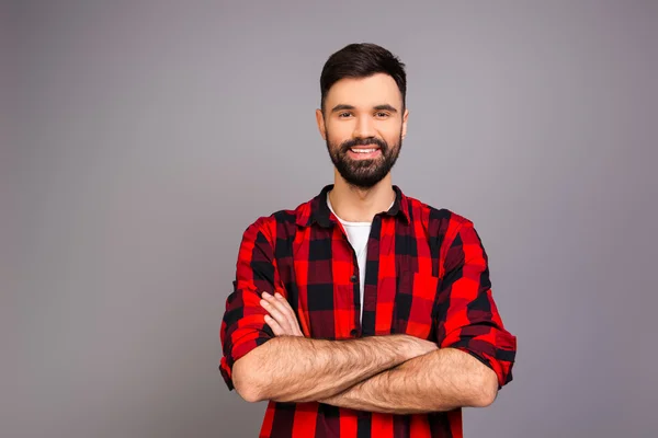
[[[400,273],[396,291],[393,333],[421,339],[434,337],[433,309],[439,277],[426,273]]]

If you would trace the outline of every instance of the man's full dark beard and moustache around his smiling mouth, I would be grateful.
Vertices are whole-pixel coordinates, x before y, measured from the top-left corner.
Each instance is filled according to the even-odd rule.
[[[327,151],[338,173],[348,184],[358,188],[372,188],[390,172],[402,149],[402,132],[396,145],[389,146],[385,140],[378,138],[358,138],[345,140],[340,145],[333,143],[327,132]],[[376,145],[379,148],[379,157],[375,159],[353,160],[349,155],[351,148],[356,146]]]

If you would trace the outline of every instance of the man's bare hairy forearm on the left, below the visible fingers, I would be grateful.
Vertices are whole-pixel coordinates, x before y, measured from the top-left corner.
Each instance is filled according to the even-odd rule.
[[[235,367],[242,366],[237,374],[254,401],[308,402],[332,396],[416,357],[413,345],[413,338],[406,335],[348,341],[281,336]],[[236,382],[236,388],[245,388],[241,383]]]

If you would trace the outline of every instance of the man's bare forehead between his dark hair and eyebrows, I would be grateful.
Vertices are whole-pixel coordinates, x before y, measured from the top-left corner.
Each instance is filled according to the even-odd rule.
[[[326,106],[338,104],[374,106],[389,104],[400,107],[402,95],[395,80],[385,73],[367,78],[344,78],[337,81],[327,93]]]

